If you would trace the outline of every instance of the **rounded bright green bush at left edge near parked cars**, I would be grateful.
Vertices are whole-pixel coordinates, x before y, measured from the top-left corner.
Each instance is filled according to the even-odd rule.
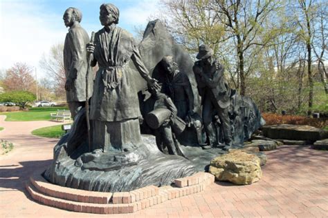
[[[28,91],[5,92],[0,95],[1,101],[18,103],[21,108],[25,108],[26,103],[35,101],[35,99],[37,99],[37,97]]]

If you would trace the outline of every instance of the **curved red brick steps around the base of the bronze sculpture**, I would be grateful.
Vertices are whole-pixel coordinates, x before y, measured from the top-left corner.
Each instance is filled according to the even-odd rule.
[[[40,174],[30,177],[26,190],[35,200],[47,206],[98,214],[131,213],[161,204],[174,198],[201,192],[214,183],[215,177],[197,172],[191,177],[176,179],[175,186],[147,186],[130,192],[93,192],[66,188],[48,183]]]

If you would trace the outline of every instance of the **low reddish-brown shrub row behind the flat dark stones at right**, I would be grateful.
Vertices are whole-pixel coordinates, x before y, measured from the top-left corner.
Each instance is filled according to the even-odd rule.
[[[309,125],[316,128],[323,128],[328,125],[327,118],[309,118],[296,115],[277,115],[262,113],[262,117],[266,121],[266,126],[277,124],[293,124],[293,125]]]

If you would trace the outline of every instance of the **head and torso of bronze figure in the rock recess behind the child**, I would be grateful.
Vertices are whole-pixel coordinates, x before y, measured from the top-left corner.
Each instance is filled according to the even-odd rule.
[[[163,92],[170,97],[178,109],[178,117],[187,120],[193,114],[194,94],[187,75],[180,72],[172,56],[163,57],[161,64],[165,72]]]

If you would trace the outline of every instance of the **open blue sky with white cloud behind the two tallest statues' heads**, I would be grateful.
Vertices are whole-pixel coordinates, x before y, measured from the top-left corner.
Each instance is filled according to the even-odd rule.
[[[63,43],[67,28],[62,15],[66,8],[82,11],[81,25],[91,34],[102,26],[99,8],[102,3],[113,3],[120,9],[118,25],[134,34],[135,27],[145,28],[149,17],[158,13],[158,0],[0,0],[0,70],[6,70],[15,62],[24,62],[37,68],[38,77],[45,74],[39,68],[39,60],[51,46]]]

